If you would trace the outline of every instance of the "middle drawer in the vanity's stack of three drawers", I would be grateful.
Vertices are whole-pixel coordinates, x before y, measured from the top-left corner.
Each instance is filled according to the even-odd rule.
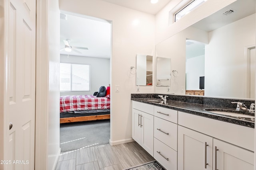
[[[154,137],[177,151],[177,126],[170,121],[154,117]]]

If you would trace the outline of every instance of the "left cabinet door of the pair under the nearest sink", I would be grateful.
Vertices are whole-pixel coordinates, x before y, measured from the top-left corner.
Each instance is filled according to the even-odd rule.
[[[212,170],[212,140],[178,126],[178,170]]]

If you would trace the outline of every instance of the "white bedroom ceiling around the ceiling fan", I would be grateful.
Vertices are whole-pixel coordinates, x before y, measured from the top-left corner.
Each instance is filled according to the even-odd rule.
[[[88,50],[76,49],[81,53],[61,50],[61,55],[110,59],[111,24],[108,21],[67,14],[66,19],[60,19],[60,49],[65,47],[63,40],[69,39],[71,47],[87,47]]]

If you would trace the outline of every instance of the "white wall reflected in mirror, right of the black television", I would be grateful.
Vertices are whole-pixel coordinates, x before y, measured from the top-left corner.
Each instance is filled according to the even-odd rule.
[[[206,96],[246,98],[244,52],[245,47],[255,45],[255,36],[255,14],[209,33],[205,46]]]

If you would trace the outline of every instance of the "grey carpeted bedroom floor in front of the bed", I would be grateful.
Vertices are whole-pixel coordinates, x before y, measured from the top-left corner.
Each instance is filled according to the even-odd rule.
[[[110,119],[60,124],[61,152],[109,143]]]

